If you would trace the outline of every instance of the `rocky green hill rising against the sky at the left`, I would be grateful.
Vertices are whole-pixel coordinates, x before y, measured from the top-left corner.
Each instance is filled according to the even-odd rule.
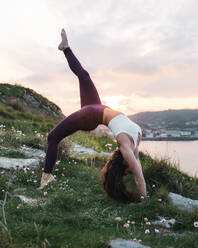
[[[34,113],[49,119],[64,117],[61,109],[34,90],[20,85],[0,84],[0,104],[16,111]],[[3,109],[3,106],[1,106]],[[0,112],[0,115],[3,115]]]

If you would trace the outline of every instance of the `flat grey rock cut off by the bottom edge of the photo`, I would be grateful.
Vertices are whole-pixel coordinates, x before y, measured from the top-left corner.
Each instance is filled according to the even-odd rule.
[[[111,240],[108,248],[150,248],[150,246],[145,246],[131,240],[115,239]]]

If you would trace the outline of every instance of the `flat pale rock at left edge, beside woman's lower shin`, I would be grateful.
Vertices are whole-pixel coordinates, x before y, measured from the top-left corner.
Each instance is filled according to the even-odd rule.
[[[0,168],[23,168],[23,167],[36,167],[39,166],[40,160],[38,158],[5,158],[0,157]]]

